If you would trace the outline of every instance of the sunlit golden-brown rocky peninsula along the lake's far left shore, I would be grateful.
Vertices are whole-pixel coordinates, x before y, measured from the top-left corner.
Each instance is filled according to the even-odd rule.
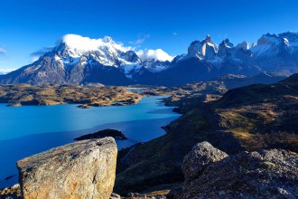
[[[81,104],[80,108],[88,109],[98,106],[135,104],[141,99],[141,94],[122,87],[0,85],[0,103],[9,103],[10,106],[70,103]]]

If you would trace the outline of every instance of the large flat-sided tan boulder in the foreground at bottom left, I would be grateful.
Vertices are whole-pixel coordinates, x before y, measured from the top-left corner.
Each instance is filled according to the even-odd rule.
[[[116,175],[112,137],[83,140],[17,162],[24,199],[109,198]]]

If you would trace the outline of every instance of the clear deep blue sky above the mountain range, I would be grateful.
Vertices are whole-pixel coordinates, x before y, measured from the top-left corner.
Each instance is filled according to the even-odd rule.
[[[207,34],[237,44],[298,32],[297,10],[297,0],[0,0],[0,71],[33,62],[68,33],[174,56]]]

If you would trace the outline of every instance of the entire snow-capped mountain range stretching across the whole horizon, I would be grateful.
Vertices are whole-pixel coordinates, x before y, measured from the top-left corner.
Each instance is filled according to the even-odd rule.
[[[36,62],[1,75],[0,83],[174,86],[225,74],[292,74],[298,72],[298,33],[266,33],[251,46],[228,39],[217,45],[207,35],[172,61],[140,57],[108,36],[96,40],[67,34]]]

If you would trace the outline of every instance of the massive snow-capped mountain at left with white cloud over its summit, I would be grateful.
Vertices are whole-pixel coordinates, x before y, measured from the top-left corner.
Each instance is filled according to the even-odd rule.
[[[89,39],[67,34],[36,62],[5,75],[0,81],[37,85],[87,82],[126,85],[135,83],[133,76],[141,69],[166,69],[158,60],[144,63],[145,66],[134,51],[115,43],[110,37]]]

